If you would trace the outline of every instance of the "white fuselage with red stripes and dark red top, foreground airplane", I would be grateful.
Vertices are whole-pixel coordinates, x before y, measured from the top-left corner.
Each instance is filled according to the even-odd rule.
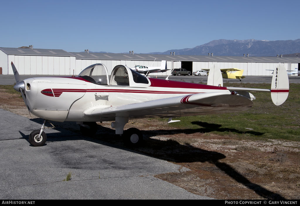
[[[230,93],[226,87],[148,78],[143,86],[98,85],[81,77],[24,80],[29,110],[53,121],[91,121],[83,115],[90,107],[106,108],[197,93]],[[99,119],[98,121],[113,119]]]

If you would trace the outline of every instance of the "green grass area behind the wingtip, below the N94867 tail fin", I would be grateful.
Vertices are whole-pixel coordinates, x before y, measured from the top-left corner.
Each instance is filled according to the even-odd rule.
[[[231,87],[268,89],[269,84],[232,84]],[[300,84],[289,85],[289,97],[280,106],[272,103],[270,93],[252,92],[256,97],[247,111],[201,116],[185,116],[169,127],[200,133],[235,136],[238,139],[285,139],[300,141]],[[165,121],[165,120],[164,120]],[[249,130],[246,128],[251,128]]]

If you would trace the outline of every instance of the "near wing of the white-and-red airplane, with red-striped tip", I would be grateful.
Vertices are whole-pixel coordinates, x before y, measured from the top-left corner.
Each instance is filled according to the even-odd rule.
[[[250,99],[242,95],[231,95],[229,92],[214,92],[170,97],[115,107],[91,107],[84,111],[84,115],[105,118],[117,115],[131,119],[178,117],[243,111],[250,108],[252,104]]]

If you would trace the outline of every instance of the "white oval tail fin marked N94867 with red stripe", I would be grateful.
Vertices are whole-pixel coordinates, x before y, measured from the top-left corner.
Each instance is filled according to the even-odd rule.
[[[289,78],[282,63],[278,63],[274,69],[271,84],[271,99],[275,105],[285,102],[289,96]]]

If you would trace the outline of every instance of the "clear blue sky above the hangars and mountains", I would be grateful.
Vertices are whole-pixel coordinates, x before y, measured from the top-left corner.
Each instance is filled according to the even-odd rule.
[[[0,47],[164,52],[218,39],[300,38],[300,1],[4,1]]]

